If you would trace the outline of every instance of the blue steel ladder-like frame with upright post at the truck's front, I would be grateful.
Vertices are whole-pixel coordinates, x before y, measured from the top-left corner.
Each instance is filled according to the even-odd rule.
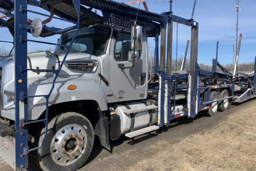
[[[73,0],[74,7],[77,11],[77,15],[80,16],[80,0]],[[28,167],[28,152],[37,150],[43,145],[47,136],[47,124],[48,124],[48,100],[54,89],[55,81],[58,78],[60,70],[64,65],[65,59],[70,51],[70,48],[75,40],[75,37],[80,28],[80,17],[77,17],[76,24],[77,31],[70,45],[61,45],[67,48],[66,54],[60,67],[56,70],[46,69],[27,69],[27,42],[38,42],[46,43],[51,45],[58,45],[54,43],[47,43],[42,41],[33,41],[27,39],[27,30],[30,27],[27,26],[27,12],[37,13],[35,11],[27,10],[27,0],[15,0],[14,1],[14,66],[15,66],[15,130],[16,130],[16,169],[22,170]],[[37,13],[38,14],[38,13]],[[44,15],[47,16],[47,15]],[[57,18],[57,17],[56,17]],[[59,19],[59,18],[58,18]],[[68,21],[68,20],[66,20]],[[74,28],[74,27],[72,27]],[[26,49],[26,50],[24,50]],[[43,71],[43,72],[54,72],[55,78],[52,82],[52,87],[47,95],[28,96],[27,94],[27,71]],[[46,114],[45,119],[34,120],[28,122],[28,106],[27,99],[34,97],[46,98]],[[42,143],[39,147],[28,149],[28,130],[27,124],[43,122],[46,127],[46,134],[43,138]]]

